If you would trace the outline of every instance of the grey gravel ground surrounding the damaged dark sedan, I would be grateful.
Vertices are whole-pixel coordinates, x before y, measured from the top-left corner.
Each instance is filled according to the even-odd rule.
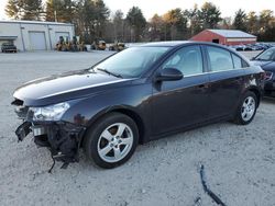
[[[52,174],[50,152],[32,138],[18,144],[12,92],[23,82],[88,68],[110,52],[0,54],[0,205],[215,205],[209,187],[232,206],[275,204],[275,100],[263,100],[248,126],[220,123],[139,146],[124,165],[102,170],[84,154]]]

